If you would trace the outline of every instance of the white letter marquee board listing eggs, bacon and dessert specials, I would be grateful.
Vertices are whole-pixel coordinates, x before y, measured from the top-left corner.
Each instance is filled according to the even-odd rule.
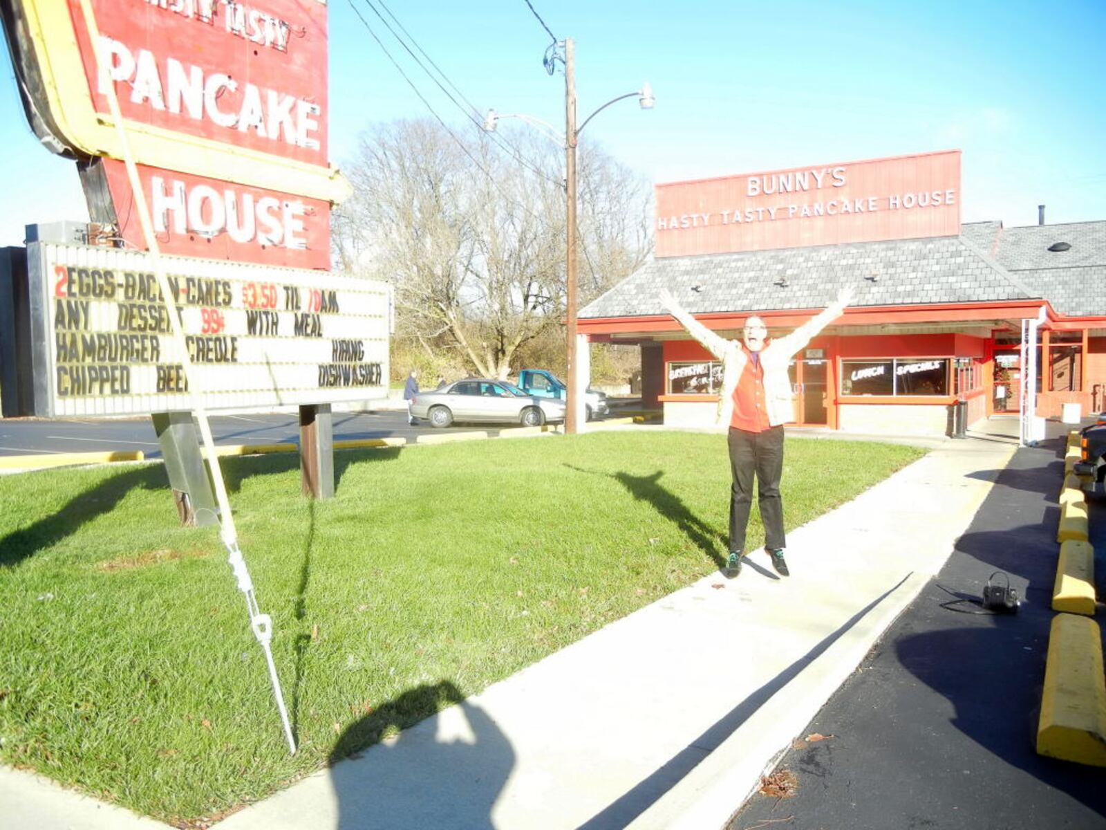
[[[383,397],[390,288],[319,271],[164,257],[204,406]],[[190,408],[145,253],[28,247],[34,414]]]

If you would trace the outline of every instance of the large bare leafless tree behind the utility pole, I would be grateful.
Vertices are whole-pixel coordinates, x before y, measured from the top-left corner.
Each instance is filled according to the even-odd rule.
[[[510,142],[505,153],[431,121],[379,125],[346,165],[354,196],[333,222],[336,263],[393,282],[403,334],[493,377],[564,314],[561,154],[519,133]],[[646,256],[648,195],[599,151],[582,154],[581,180],[591,298]]]

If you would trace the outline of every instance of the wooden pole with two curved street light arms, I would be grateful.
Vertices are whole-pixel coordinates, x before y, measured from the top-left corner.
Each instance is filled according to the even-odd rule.
[[[565,262],[565,282],[567,294],[565,298],[567,305],[565,339],[567,341],[566,371],[568,373],[568,398],[565,407],[564,430],[568,435],[573,435],[578,430],[577,424],[584,421],[584,396],[582,394],[582,390],[580,388],[580,376],[576,365],[576,145],[580,139],[580,134],[584,131],[584,127],[587,126],[588,122],[612,104],[626,98],[637,97],[638,104],[643,110],[651,110],[653,105],[656,103],[656,98],[653,96],[653,87],[647,83],[641,84],[640,90],[627,92],[625,95],[618,95],[617,97],[611,98],[611,101],[603,104],[603,106],[598,107],[591,115],[584,118],[584,123],[577,127],[575,44],[573,43],[572,38],[566,38],[557,45],[564,46],[564,58],[562,59],[560,55],[555,55],[552,60],[560,59],[564,62],[565,132],[563,134],[559,133],[552,125],[546,124],[541,118],[535,118],[532,115],[522,115],[519,113],[500,114],[494,110],[488,111],[483,128],[491,133],[494,132],[495,123],[500,118],[520,118],[539,127],[543,133],[551,136],[559,145],[564,147],[565,151],[565,225],[568,237]],[[550,74],[553,74],[552,61],[546,62],[546,68],[549,69]]]

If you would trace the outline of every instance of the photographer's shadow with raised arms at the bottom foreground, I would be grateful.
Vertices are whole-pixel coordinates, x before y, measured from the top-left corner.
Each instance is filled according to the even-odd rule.
[[[358,753],[379,743],[389,728],[413,726],[436,712],[418,729],[364,757]],[[333,827],[492,830],[491,810],[514,757],[495,723],[480,706],[466,703],[450,681],[408,689],[349,726],[334,745],[331,785],[338,820]],[[340,764],[344,758],[358,760]]]

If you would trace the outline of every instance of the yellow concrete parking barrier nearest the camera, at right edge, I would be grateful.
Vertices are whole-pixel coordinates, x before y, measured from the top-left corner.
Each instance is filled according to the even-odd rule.
[[[1106,683],[1098,624],[1056,614],[1048,634],[1037,753],[1106,767]]]

